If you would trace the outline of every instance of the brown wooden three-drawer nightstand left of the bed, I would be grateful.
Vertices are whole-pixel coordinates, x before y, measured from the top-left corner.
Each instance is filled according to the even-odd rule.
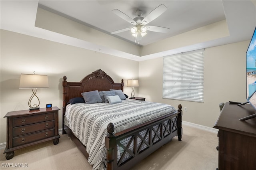
[[[8,112],[6,159],[14,157],[14,150],[53,140],[58,144],[58,107]]]

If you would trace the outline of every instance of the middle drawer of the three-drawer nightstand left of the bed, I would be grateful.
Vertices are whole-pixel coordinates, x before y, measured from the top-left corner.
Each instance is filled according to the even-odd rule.
[[[12,136],[28,134],[28,133],[31,133],[31,132],[46,130],[46,129],[53,128],[53,127],[54,127],[54,121],[47,121],[47,122],[43,122],[43,123],[35,123],[35,124],[32,124],[32,125],[14,127],[13,132],[12,132]]]

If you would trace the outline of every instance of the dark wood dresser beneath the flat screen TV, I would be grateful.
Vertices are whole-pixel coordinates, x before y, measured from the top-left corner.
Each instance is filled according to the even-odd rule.
[[[256,118],[239,119],[256,113],[249,104],[225,103],[214,128],[218,128],[219,170],[254,170],[256,168]]]

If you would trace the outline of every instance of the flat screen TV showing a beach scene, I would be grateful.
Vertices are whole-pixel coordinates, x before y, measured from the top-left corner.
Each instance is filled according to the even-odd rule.
[[[256,28],[252,34],[251,42],[246,51],[246,97],[248,103],[256,109]],[[244,117],[240,120],[245,121],[256,117],[256,114]]]

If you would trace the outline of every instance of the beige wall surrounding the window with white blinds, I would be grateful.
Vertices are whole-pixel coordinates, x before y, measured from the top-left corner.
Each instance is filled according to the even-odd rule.
[[[183,109],[183,121],[213,127],[219,103],[246,101],[246,50],[249,41],[206,48],[204,51],[204,103],[162,99],[162,57],[139,63],[139,95],[148,101]]]

